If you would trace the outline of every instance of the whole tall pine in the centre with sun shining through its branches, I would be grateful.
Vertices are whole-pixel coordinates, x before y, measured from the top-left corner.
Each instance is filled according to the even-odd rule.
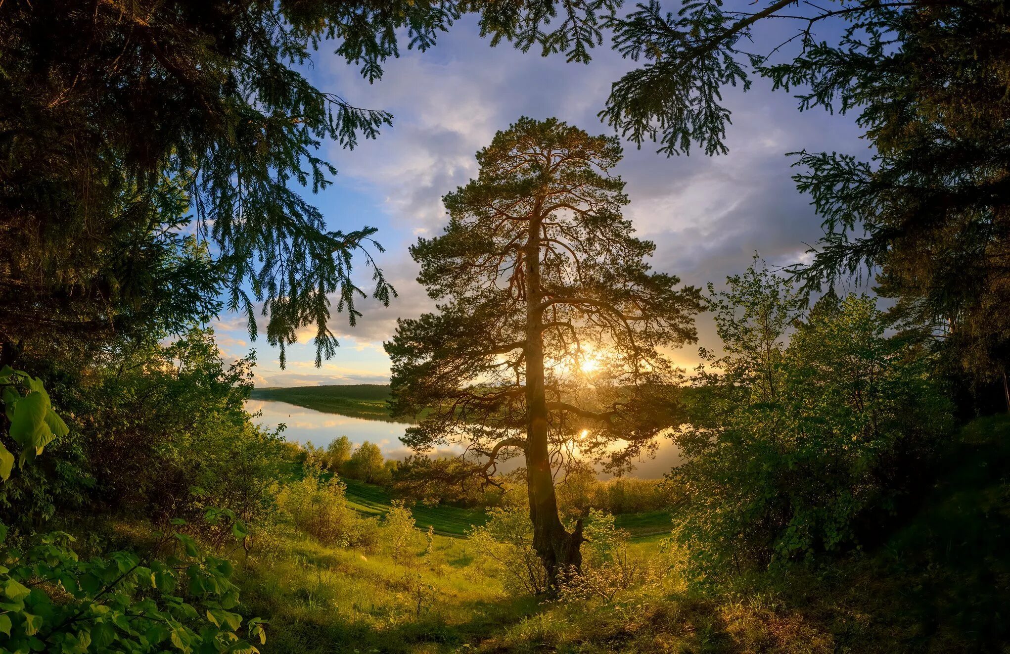
[[[386,350],[394,408],[431,407],[404,442],[466,442],[525,459],[534,547],[551,577],[579,566],[581,523],[558,516],[553,468],[577,451],[626,468],[675,419],[678,371],[661,349],[695,339],[696,289],[654,273],[621,217],[616,138],[520,118],[446,195],[445,232],[411,255],[437,313],[400,319]]]

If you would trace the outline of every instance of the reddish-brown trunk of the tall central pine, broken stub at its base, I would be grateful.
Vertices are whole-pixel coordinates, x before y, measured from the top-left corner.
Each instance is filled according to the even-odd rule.
[[[542,301],[540,289],[539,203],[529,221],[526,263],[526,484],[529,518],[533,523],[533,549],[547,571],[548,588],[559,575],[581,572],[582,521],[572,534],[558,516],[558,499],[547,445],[547,405],[544,391]]]

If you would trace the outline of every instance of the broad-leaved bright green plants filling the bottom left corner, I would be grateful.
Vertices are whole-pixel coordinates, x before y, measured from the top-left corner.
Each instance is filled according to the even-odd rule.
[[[201,553],[176,531],[180,524],[146,557],[121,551],[82,561],[62,532],[25,551],[0,540],[4,651],[259,651],[250,641],[266,642],[264,621],[234,613],[231,562]],[[240,522],[234,535],[245,536]]]

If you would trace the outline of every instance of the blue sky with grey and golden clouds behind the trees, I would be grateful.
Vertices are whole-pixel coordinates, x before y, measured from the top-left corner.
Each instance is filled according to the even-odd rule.
[[[780,35],[760,37],[771,50]],[[759,40],[756,49],[762,45]],[[597,112],[610,84],[634,66],[607,43],[589,65],[567,64],[562,56],[524,55],[507,44],[491,48],[472,18],[458,22],[425,53],[404,50],[384,65],[383,78],[374,84],[331,51],[316,54],[305,71],[310,81],[357,106],[386,109],[394,119],[377,139],[361,142],[354,151],[324,146],[322,155],[339,174],[309,199],[330,229],[378,227],[376,239],[386,251],[373,254],[399,297],[389,307],[362,301],[364,316],[354,328],[346,314],[334,313],[330,326],[340,347],[321,368],[314,366],[312,328],[289,347],[282,370],[277,349],[265,338],[250,342],[243,317],[222,315],[213,323],[218,345],[228,358],[257,351],[258,386],[388,382],[382,343],[393,335],[396,318],[433,306],[415,281],[418,268],[407,248],[418,237],[440,232],[446,222],[441,196],[476,176],[475,153],[523,115],[557,116],[590,133],[611,133]],[[770,266],[801,261],[807,244],[821,235],[809,198],[794,187],[786,153],[806,149],[870,156],[851,116],[820,109],[801,113],[792,94],[773,93],[765,80],[755,79],[745,94],[727,90],[725,100],[733,121],[727,129],[728,155],[694,152],[668,158],[655,154],[653,144],[637,150],[626,143],[615,171],[631,200],[625,215],[639,237],[656,245],[652,267],[702,287],[741,273],[755,252]],[[368,289],[370,275],[361,261],[358,272]],[[698,318],[698,346],[717,349],[710,317]],[[693,367],[698,346],[675,352],[674,360]]]

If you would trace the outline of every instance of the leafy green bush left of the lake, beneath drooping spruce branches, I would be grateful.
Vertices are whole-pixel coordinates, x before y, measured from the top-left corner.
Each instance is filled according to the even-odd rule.
[[[213,333],[192,330],[168,347],[125,340],[60,387],[80,435],[90,508],[193,520],[207,505],[249,524],[270,512],[282,439],[244,410],[255,359],[225,366]],[[194,492],[194,488],[196,492]]]

